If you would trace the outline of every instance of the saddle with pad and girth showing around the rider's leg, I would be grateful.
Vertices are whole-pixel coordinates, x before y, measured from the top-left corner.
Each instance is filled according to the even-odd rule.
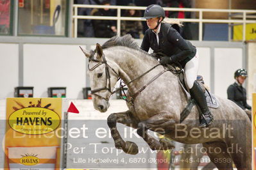
[[[191,112],[192,107],[194,105],[196,105],[196,102],[194,101],[194,99],[191,99],[191,95],[189,93],[189,88],[185,84],[185,77],[184,77],[184,72],[183,72],[182,68],[175,64],[167,65],[167,68],[168,68],[168,70],[171,70],[171,72],[176,72],[176,75],[178,75],[177,76],[178,82],[180,83],[183,93],[185,94],[185,97],[187,98],[188,103],[187,103],[186,107],[183,109],[183,111],[180,113],[180,123],[182,123],[182,121],[185,120],[185,118],[187,118],[187,116]],[[205,98],[206,98],[208,107],[210,107],[212,109],[217,109],[219,107],[219,102],[218,102],[217,98],[212,93],[210,93],[210,91],[205,87],[204,84],[202,84],[200,81],[198,81],[198,83],[200,84],[201,89],[205,93]]]

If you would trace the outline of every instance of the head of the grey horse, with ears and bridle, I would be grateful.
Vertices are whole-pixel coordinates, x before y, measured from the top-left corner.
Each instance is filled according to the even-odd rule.
[[[88,68],[94,109],[106,112],[110,105],[108,100],[118,80],[117,66],[114,62],[106,60],[103,49],[98,43],[94,51],[81,50],[89,58]]]

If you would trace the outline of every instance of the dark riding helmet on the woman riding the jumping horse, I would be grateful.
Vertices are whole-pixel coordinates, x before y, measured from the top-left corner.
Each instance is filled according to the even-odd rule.
[[[166,13],[164,12],[162,6],[158,4],[151,4],[146,8],[143,18],[151,19],[155,17],[163,17],[164,19],[164,17],[166,17]]]

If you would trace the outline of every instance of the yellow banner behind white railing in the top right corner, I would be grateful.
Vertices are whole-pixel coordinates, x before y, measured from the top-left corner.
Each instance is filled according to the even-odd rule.
[[[243,40],[243,25],[234,26],[233,40]],[[256,40],[256,24],[246,24],[245,40]]]

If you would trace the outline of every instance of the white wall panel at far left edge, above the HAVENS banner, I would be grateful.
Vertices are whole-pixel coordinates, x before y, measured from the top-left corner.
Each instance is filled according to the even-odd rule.
[[[13,97],[19,84],[19,45],[0,43],[0,98]]]

